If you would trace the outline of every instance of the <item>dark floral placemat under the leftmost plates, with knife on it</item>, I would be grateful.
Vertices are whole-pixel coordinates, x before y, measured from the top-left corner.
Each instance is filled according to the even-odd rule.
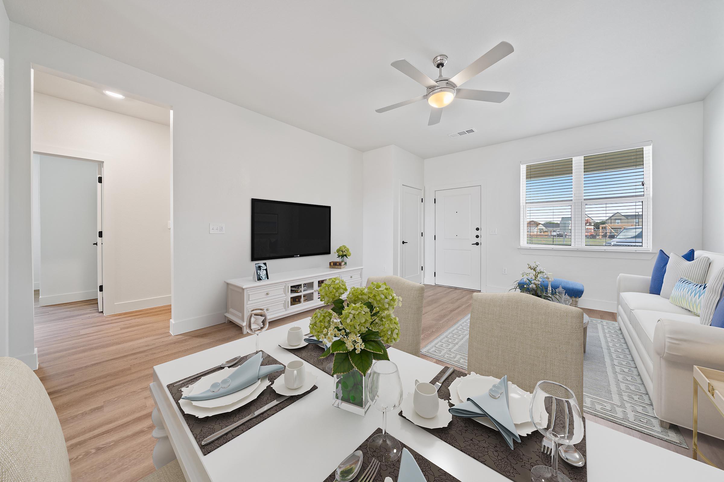
[[[256,352],[250,353],[247,356],[243,357],[244,361],[247,361],[248,358],[251,356],[256,355]],[[281,363],[277,361],[276,358],[269,355],[269,353],[264,352],[264,360],[261,361],[262,365],[284,365],[284,363]],[[271,384],[274,383],[274,380],[279,378],[279,376],[283,376],[284,371],[275,371],[272,374],[269,374],[269,382]],[[201,376],[198,378],[193,379],[193,382],[196,382],[198,379],[200,379]],[[181,410],[181,415],[183,416],[186,425],[188,425],[188,429],[191,431],[191,434],[193,434],[193,438],[195,439],[196,443],[198,444],[198,448],[201,449],[201,453],[203,455],[209,454],[211,452],[214,452],[214,450],[221,447],[223,444],[229,442],[232,439],[235,439],[235,437],[240,436],[248,429],[251,429],[253,426],[257,426],[259,423],[265,421],[267,418],[274,415],[274,413],[279,412],[280,410],[283,410],[284,408],[288,407],[289,405],[292,405],[292,403],[295,403],[297,400],[299,400],[304,395],[307,395],[310,392],[313,392],[317,389],[317,386],[314,385],[311,387],[311,390],[307,390],[306,392],[300,394],[300,395],[293,395],[292,397],[287,398],[287,400],[283,401],[282,403],[279,403],[279,405],[275,405],[274,407],[270,408],[269,410],[266,410],[264,413],[260,413],[258,416],[252,418],[250,421],[247,421],[246,423],[243,423],[242,425],[238,426],[236,429],[230,431],[228,434],[225,434],[224,436],[220,436],[218,439],[214,440],[214,442],[211,442],[208,445],[201,445],[201,441],[203,439],[206,439],[207,436],[216,433],[216,431],[219,431],[223,429],[224,427],[230,426],[232,423],[236,421],[240,421],[245,416],[251,415],[251,413],[255,412],[259,408],[264,407],[267,403],[270,403],[277,399],[277,397],[281,397],[282,395],[279,395],[277,392],[274,392],[274,389],[271,388],[271,384],[269,384],[269,387],[266,387],[264,389],[264,392],[261,392],[258,397],[256,397],[256,400],[253,400],[243,407],[239,407],[236,410],[232,410],[228,413],[219,413],[219,415],[206,417],[206,418],[197,418],[193,415],[188,415],[186,413],[183,413],[183,410],[181,409],[181,405],[179,404],[179,400],[181,400],[181,389],[182,387],[187,386],[188,383],[180,384],[177,387],[174,387],[173,382],[171,384],[168,384],[166,387],[169,389],[169,392],[171,392],[171,396],[173,397],[174,401],[176,402],[176,405],[178,406],[179,410]]]

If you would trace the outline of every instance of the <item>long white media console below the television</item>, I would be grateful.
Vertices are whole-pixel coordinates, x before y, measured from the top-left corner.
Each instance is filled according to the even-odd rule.
[[[319,287],[330,277],[341,277],[348,288],[362,285],[362,267],[310,268],[308,270],[271,273],[271,280],[256,281],[253,277],[227,280],[228,321],[246,332],[249,311],[261,308],[269,320],[324,306],[319,299]]]

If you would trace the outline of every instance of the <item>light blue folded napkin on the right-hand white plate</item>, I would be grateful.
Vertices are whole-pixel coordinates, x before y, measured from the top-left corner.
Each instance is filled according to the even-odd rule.
[[[497,392],[499,397],[494,398],[490,395],[490,392]],[[450,408],[450,413],[463,418],[487,417],[500,431],[508,447],[513,448],[513,440],[521,442],[513,418],[510,417],[508,375],[503,376],[500,382],[494,384],[489,392],[475,397],[468,397],[465,402],[458,403],[458,405]]]

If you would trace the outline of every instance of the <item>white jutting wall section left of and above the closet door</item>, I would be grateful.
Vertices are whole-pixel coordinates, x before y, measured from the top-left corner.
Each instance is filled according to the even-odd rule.
[[[400,274],[400,191],[423,177],[423,160],[395,145],[363,154],[365,279]]]

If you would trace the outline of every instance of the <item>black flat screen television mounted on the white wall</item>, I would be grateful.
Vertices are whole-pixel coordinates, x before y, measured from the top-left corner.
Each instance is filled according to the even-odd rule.
[[[331,210],[329,206],[251,199],[251,260],[329,254]]]

